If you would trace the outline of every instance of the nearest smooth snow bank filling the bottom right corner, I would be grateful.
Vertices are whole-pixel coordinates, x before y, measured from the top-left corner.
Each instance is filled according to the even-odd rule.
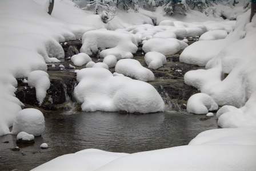
[[[96,170],[254,171],[255,157],[255,145],[186,145],[129,154]]]

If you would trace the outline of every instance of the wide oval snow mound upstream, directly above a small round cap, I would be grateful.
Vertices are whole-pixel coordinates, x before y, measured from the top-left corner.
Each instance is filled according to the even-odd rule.
[[[178,51],[183,50],[185,47],[187,47],[187,43],[178,39],[153,38],[153,39],[147,40],[143,44],[142,50],[144,52],[155,51],[168,56],[168,55],[176,54]]]

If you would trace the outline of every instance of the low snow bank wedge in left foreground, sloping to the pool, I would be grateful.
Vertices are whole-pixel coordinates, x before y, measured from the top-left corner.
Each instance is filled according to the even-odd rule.
[[[66,154],[45,164],[32,169],[40,170],[86,170],[93,171],[119,157],[126,156],[126,153],[111,153],[98,149],[86,149],[73,154]]]

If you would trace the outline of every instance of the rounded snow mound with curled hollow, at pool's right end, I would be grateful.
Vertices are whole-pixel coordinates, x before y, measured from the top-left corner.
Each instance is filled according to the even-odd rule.
[[[189,113],[206,114],[217,109],[218,104],[206,93],[196,93],[187,101],[187,112]]]

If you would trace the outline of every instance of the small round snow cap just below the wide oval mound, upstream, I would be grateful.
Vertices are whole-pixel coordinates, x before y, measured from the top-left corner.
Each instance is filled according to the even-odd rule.
[[[145,62],[149,68],[157,70],[166,63],[166,57],[159,52],[147,52]]]

